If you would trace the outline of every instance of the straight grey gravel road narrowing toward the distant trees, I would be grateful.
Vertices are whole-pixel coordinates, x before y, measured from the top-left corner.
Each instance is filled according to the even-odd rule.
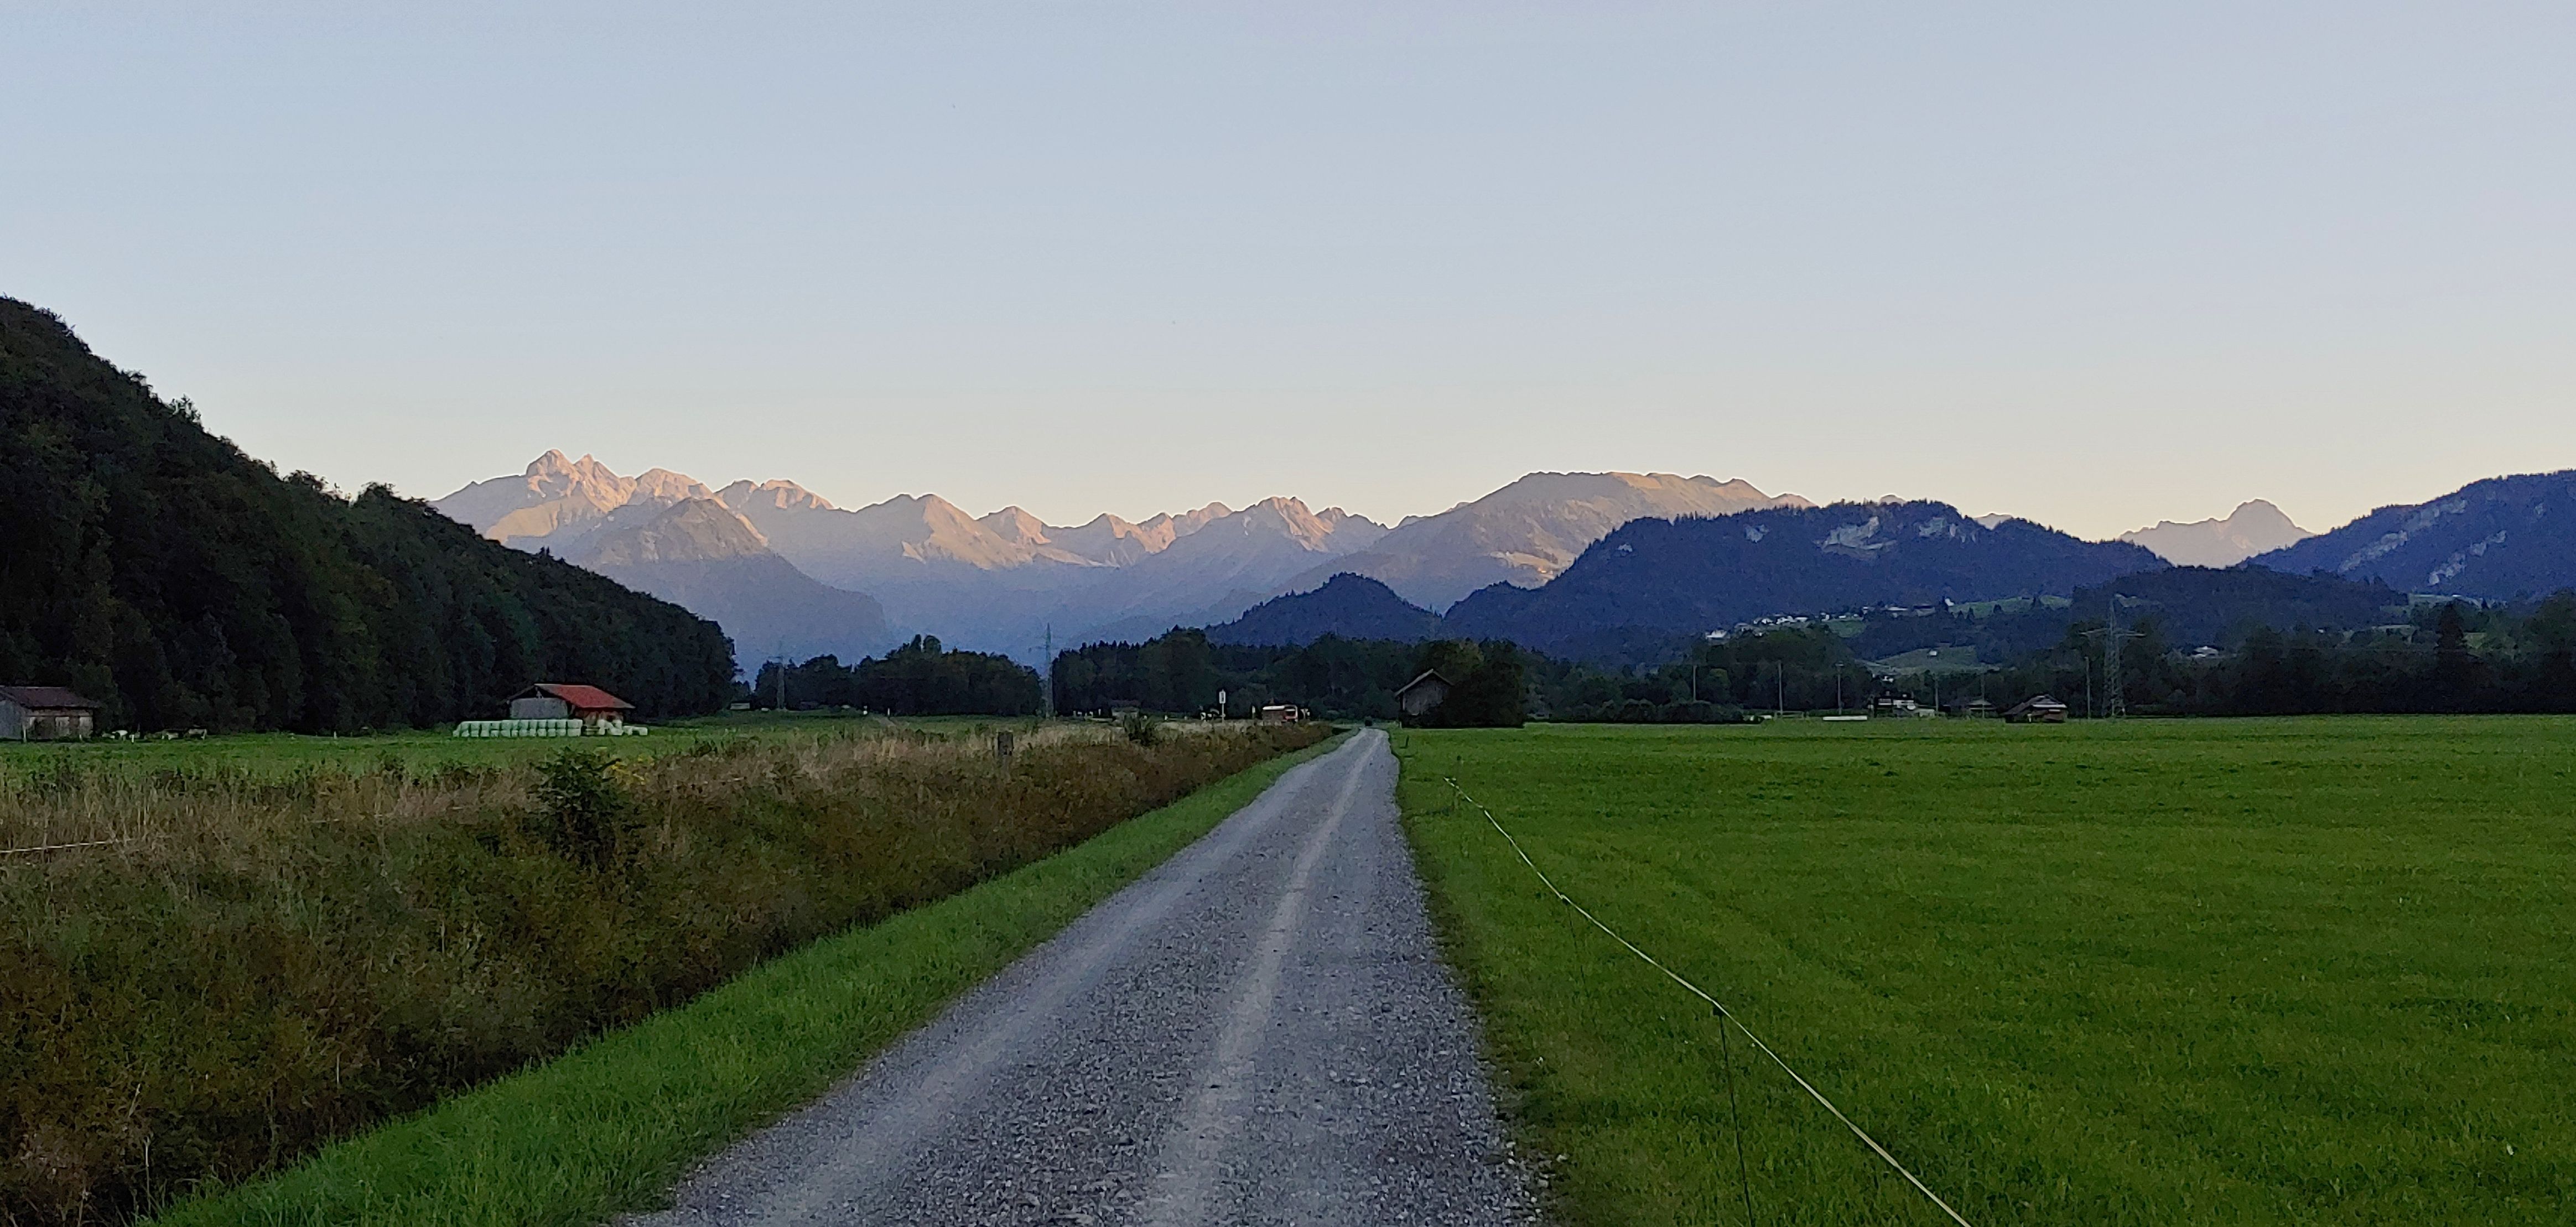
[[[680,1224],[1525,1224],[1368,729],[675,1191]]]

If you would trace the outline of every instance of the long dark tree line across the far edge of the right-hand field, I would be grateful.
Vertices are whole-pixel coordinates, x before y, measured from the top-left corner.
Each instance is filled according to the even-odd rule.
[[[2043,616],[2058,619],[2053,639],[2030,629]],[[2063,603],[2058,611],[2032,603],[2032,611],[2002,621],[2012,637],[2040,647],[2004,665],[1960,670],[1891,673],[1873,665],[1862,650],[1888,639],[1878,621],[1865,629],[1857,621],[1842,629],[1811,621],[1723,639],[1664,639],[1659,662],[1625,668],[1507,652],[1522,709],[1556,722],[1736,722],[1772,709],[1862,711],[1875,699],[1914,699],[1950,711],[1984,701],[2002,711],[2040,693],[2066,701],[2079,717],[2105,711],[2107,624],[2102,616],[2063,619]],[[1947,619],[1901,621],[1901,634],[1924,634],[1940,632]],[[2130,714],[2576,711],[2576,593],[2519,608],[2427,603],[2406,611],[2403,621],[2365,629],[2246,621],[2218,637],[2223,647],[2177,644],[2164,624],[2164,616],[2123,621],[2117,673]],[[1860,634],[1844,634],[1850,629]],[[1986,634],[1973,655],[1978,660],[1994,660],[1996,639],[2009,642]],[[1118,704],[1213,711],[1224,691],[1234,717],[1260,704],[1296,704],[1327,717],[1396,719],[1396,691],[1406,681],[1430,668],[1463,681],[1476,670],[1466,662],[1468,652],[1486,660],[1497,655],[1497,642],[1321,637],[1306,647],[1242,647],[1175,629],[1144,644],[1064,652],[1054,662],[1054,683],[1061,711]]]

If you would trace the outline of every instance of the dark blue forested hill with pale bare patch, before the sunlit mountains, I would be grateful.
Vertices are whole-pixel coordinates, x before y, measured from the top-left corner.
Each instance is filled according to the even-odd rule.
[[[1443,634],[1600,657],[1638,632],[1695,634],[1770,614],[2069,595],[2164,562],[2030,521],[1994,528],[1947,503],[1837,503],[1705,521],[1633,521],[1546,588],[1484,588]]]

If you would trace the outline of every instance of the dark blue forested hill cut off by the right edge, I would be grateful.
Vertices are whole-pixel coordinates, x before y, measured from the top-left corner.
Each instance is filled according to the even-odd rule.
[[[2494,601],[2576,588],[2576,469],[2488,477],[2432,503],[2380,508],[2254,565]]]

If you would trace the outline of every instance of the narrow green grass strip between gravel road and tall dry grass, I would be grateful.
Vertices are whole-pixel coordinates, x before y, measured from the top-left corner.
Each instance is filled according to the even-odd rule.
[[[652,1206],[688,1165],[848,1077],[1345,737],[822,938],[688,1005],[152,1222],[585,1224]]]

